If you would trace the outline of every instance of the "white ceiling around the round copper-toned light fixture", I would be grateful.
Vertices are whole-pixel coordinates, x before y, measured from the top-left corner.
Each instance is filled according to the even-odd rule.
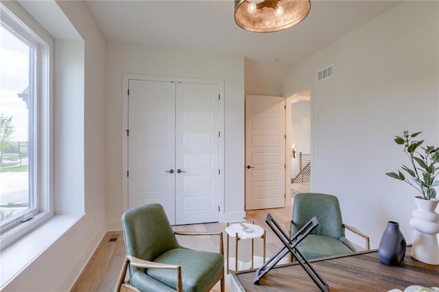
[[[246,56],[246,84],[280,86],[292,66],[399,1],[312,1],[307,18],[282,32],[253,33],[231,0],[85,1],[106,40]],[[277,62],[270,62],[276,58]]]

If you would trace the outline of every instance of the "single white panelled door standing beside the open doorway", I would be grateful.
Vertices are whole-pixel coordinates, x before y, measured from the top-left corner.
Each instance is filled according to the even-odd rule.
[[[246,210],[285,206],[285,98],[246,97]]]

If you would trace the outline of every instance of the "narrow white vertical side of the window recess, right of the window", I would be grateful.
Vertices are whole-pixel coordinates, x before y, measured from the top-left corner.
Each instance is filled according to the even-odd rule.
[[[54,193],[63,198],[54,200],[55,214],[82,214],[84,195],[75,194],[84,193],[84,42],[54,47]]]

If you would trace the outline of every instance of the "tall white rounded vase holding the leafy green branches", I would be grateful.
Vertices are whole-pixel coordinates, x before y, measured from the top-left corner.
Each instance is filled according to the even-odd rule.
[[[439,214],[434,212],[439,199],[414,198],[416,210],[412,212],[410,226],[414,228],[412,258],[430,265],[439,265]]]

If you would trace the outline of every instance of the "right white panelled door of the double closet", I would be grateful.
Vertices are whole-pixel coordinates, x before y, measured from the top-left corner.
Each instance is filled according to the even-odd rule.
[[[216,222],[218,203],[219,88],[178,83],[176,223]]]

